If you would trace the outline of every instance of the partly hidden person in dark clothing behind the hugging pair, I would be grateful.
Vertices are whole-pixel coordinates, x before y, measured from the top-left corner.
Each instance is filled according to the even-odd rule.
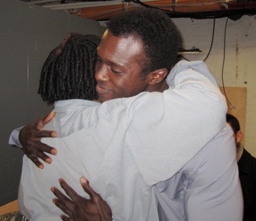
[[[237,161],[244,201],[243,221],[256,220],[256,158],[241,144],[243,132],[237,117],[226,114],[226,122],[233,129],[237,146]]]

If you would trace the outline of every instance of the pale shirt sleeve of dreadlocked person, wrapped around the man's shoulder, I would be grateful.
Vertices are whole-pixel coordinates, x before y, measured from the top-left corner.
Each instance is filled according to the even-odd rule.
[[[188,68],[175,87],[126,99],[126,133],[135,168],[148,185],[167,180],[226,125],[226,100],[208,77]]]

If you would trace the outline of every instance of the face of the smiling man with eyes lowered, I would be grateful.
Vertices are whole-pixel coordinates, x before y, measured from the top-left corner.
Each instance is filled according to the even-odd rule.
[[[148,77],[142,80],[142,67],[138,63],[145,59],[142,47],[142,41],[135,36],[116,37],[108,30],[104,33],[97,48],[95,73],[100,102],[148,90]]]

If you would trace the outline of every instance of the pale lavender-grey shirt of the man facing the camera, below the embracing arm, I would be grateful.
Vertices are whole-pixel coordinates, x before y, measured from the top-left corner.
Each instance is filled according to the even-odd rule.
[[[178,173],[154,186],[160,220],[241,221],[236,152],[233,130],[226,124]]]

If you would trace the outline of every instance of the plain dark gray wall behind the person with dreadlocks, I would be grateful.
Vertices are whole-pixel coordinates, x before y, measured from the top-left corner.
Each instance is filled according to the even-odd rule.
[[[103,31],[96,21],[23,1],[0,1],[0,206],[16,200],[21,175],[23,151],[8,144],[9,134],[52,110],[37,94],[48,53],[67,33],[101,36]]]

